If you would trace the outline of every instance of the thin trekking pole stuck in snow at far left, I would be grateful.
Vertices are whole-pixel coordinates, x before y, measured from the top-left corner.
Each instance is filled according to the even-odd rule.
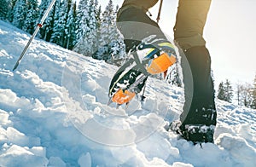
[[[47,18],[47,15],[49,14],[49,11],[50,11],[50,9],[52,9],[54,4],[55,4],[55,0],[52,0],[52,2],[49,3],[48,9],[45,11],[40,23],[37,25],[37,28],[36,28],[35,32],[32,34],[32,37],[30,37],[28,43],[26,43],[26,47],[25,47],[25,49],[23,49],[19,59],[17,60],[13,71],[15,71],[15,69],[19,66],[21,59],[26,54],[26,51],[29,48],[29,45],[32,43],[33,38],[36,37],[36,35],[38,34],[39,29],[43,26],[44,20]]]

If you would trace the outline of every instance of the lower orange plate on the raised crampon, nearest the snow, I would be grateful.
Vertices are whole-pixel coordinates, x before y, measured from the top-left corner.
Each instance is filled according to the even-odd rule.
[[[136,94],[133,92],[130,92],[128,90],[125,90],[125,92],[122,89],[119,89],[112,98],[113,102],[116,102],[119,105],[129,103],[131,99],[135,96]]]

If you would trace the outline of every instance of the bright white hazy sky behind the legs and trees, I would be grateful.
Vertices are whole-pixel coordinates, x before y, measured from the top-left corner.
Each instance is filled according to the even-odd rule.
[[[104,8],[108,0],[99,0]],[[123,0],[113,0],[121,6]],[[164,0],[160,27],[173,37],[178,0]],[[150,12],[156,20],[159,4]],[[256,0],[212,0],[204,29],[207,49],[212,57],[215,84],[253,83],[256,75]]]

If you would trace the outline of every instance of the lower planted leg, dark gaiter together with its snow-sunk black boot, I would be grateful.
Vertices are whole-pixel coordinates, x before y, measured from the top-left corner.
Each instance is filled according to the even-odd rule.
[[[188,80],[189,72],[183,66],[185,85],[185,103],[180,121],[170,125],[170,129],[194,143],[212,142],[217,112],[214,101],[214,89],[211,76],[211,58],[205,46],[197,46],[184,51],[192,73],[192,82]]]

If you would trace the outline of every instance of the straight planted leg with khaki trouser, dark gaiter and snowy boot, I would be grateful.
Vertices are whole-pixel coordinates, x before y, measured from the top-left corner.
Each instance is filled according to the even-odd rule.
[[[183,50],[183,61],[186,59],[188,62],[182,63],[186,101],[180,116],[180,129],[186,133],[189,126],[216,124],[211,57],[202,37],[210,4],[211,0],[180,0],[177,9],[174,37]],[[188,72],[188,66],[191,73]],[[192,78],[189,80],[191,74]],[[211,133],[213,135],[213,130]],[[187,137],[191,141],[213,141],[212,136],[201,139],[205,138],[201,134]]]

